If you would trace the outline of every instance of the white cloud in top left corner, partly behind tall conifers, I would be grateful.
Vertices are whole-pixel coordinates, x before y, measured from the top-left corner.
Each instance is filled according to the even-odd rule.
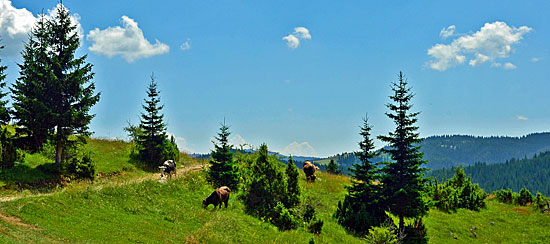
[[[64,7],[59,3],[56,7]],[[55,9],[55,8],[54,8]],[[53,18],[57,14],[54,9],[48,10],[44,18]],[[0,42],[5,48],[1,51],[2,56],[19,56],[25,42],[29,40],[29,33],[34,27],[35,22],[41,16],[34,16],[25,8],[18,9],[12,5],[9,0],[0,0]],[[76,33],[83,37],[82,26],[80,25],[80,16],[73,14],[70,16],[71,22],[76,24]]]

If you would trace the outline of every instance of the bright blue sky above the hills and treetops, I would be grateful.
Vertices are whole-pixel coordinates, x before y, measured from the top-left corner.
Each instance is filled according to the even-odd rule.
[[[8,83],[39,13],[57,1],[0,0]],[[408,77],[421,136],[550,131],[548,1],[70,1],[94,64],[96,137],[125,138],[154,72],[168,132],[208,152],[232,142],[293,155],[357,150],[390,83]],[[376,141],[378,147],[383,144]]]

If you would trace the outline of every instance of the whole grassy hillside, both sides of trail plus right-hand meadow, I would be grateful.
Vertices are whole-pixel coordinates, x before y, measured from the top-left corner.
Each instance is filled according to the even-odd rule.
[[[95,150],[98,169],[118,173],[46,194],[0,191],[0,243],[307,243],[311,238],[316,243],[362,243],[332,218],[349,184],[345,176],[320,172],[319,181],[307,184],[301,173],[304,199],[314,203],[324,221],[322,234],[315,236],[304,228],[280,232],[245,214],[235,193],[228,209],[202,209],[202,198],[213,189],[200,171],[201,162],[180,166],[177,179],[161,184],[157,173],[143,172],[129,161],[124,142],[91,140],[88,145]],[[26,162],[39,165],[37,158]],[[550,239],[548,214],[493,200],[480,212],[431,210],[424,222],[430,243],[544,243]],[[472,226],[477,238],[470,232]]]

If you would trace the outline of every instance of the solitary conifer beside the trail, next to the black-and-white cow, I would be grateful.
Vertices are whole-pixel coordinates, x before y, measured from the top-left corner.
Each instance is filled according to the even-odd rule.
[[[142,105],[145,113],[141,114],[140,128],[142,133],[138,138],[139,156],[150,169],[160,166],[166,158],[163,155],[164,144],[167,141],[166,124],[163,122],[164,114],[161,110],[164,105],[159,105],[160,97],[157,91],[157,82],[151,75],[151,82],[147,88],[147,98]]]

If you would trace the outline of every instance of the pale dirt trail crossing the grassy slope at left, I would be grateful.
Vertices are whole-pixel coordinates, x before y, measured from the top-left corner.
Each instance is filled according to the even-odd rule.
[[[172,176],[172,178],[179,178],[187,172],[199,171],[201,169],[202,169],[202,165],[190,165],[190,166],[186,166],[186,167],[183,167],[183,168],[179,168],[177,170],[177,174],[175,176]],[[112,180],[112,179],[116,179],[116,177],[112,177],[110,180],[109,179],[102,180],[99,184],[92,185],[93,189],[99,190],[99,189],[101,189],[103,187],[106,187],[106,186],[135,184],[135,183],[140,183],[140,182],[143,182],[143,181],[146,181],[146,180],[160,180],[160,173],[147,174],[147,175],[136,177],[136,178],[133,178],[133,179],[129,179],[129,180],[123,181],[123,182],[115,181],[115,180]],[[70,186],[68,186],[68,187],[70,187]],[[14,201],[14,200],[21,199],[21,198],[49,196],[49,195],[53,195],[53,194],[62,192],[64,189],[65,188],[61,188],[60,190],[56,190],[56,191],[48,192],[48,193],[36,193],[36,194],[32,194],[32,195],[16,195],[16,196],[0,197],[0,203],[1,202]]]

